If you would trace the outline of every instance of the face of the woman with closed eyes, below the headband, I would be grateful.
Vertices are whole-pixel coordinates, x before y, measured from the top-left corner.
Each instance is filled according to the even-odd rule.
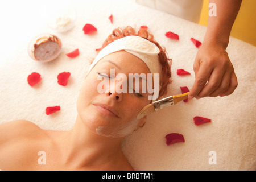
[[[110,69],[112,73],[114,71],[114,77],[110,75]],[[119,73],[127,80],[125,77],[115,78]],[[142,93],[141,79],[139,90],[134,86],[138,82],[129,84],[129,73],[147,76],[150,70],[141,59],[126,51],[105,56],[90,71],[77,101],[79,117],[90,130],[107,137],[124,137],[144,123],[146,118],[137,121],[136,117],[144,106],[150,104],[148,93]],[[125,86],[127,92],[123,89]],[[129,88],[133,88],[133,93],[128,91]]]

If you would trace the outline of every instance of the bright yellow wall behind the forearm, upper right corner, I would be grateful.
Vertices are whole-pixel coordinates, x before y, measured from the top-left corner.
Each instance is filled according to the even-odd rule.
[[[225,0],[222,0],[225,1]],[[209,0],[204,0],[199,24],[207,26]],[[243,0],[231,36],[256,46],[256,0]]]

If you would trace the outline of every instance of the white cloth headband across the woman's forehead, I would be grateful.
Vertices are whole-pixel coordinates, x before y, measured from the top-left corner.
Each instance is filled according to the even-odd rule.
[[[88,73],[103,57],[109,55],[110,53],[122,50],[129,52],[141,59],[147,65],[148,69],[150,69],[153,80],[155,73],[159,74],[160,79],[162,67],[158,60],[158,53],[160,52],[159,48],[154,43],[140,36],[126,36],[124,38],[114,40],[112,43],[108,44],[108,46],[104,47],[98,53],[92,65],[90,65]]]

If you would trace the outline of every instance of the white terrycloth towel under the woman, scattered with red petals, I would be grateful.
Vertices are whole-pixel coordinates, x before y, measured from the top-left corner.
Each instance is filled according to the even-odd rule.
[[[148,9],[130,1],[73,1],[78,18],[69,32],[59,33],[42,27],[41,32],[53,33],[63,42],[62,53],[51,63],[38,63],[27,53],[27,43],[0,68],[0,123],[26,119],[43,129],[69,130],[77,111],[76,100],[95,49],[114,28],[146,25],[155,39],[166,47],[172,63],[172,84],[167,96],[180,94],[180,86],[192,88],[195,75],[193,61],[197,48],[191,38],[203,41],[206,27]],[[113,14],[113,24],[108,17]],[[86,23],[97,28],[94,35],[85,35]],[[164,36],[168,31],[179,34],[180,40]],[[36,36],[36,35],[35,35]],[[32,39],[32,36],[31,36]],[[80,55],[71,59],[65,53],[79,48]],[[137,170],[254,170],[256,169],[256,47],[230,38],[227,49],[238,78],[235,92],[224,98],[202,98],[148,115],[146,125],[123,142],[123,151]],[[185,69],[191,76],[177,76]],[[71,72],[67,86],[57,84],[57,75]],[[27,83],[32,72],[42,75],[34,88]],[[88,90],[89,91],[89,90]],[[48,106],[60,105],[61,110],[46,115]],[[212,119],[196,126],[193,117]],[[185,142],[167,146],[169,133],[183,134]],[[214,153],[212,153],[214,151]],[[216,164],[212,164],[214,159]]]

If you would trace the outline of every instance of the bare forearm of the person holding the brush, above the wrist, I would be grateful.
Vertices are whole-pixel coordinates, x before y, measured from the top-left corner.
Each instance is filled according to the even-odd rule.
[[[209,3],[215,3],[217,14],[209,16],[204,43],[217,43],[226,49],[242,0],[209,0]]]

